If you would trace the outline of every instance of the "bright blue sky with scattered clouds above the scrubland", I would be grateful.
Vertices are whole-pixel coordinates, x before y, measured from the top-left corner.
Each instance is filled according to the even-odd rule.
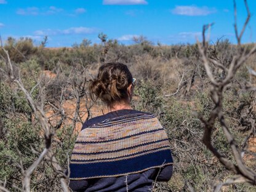
[[[242,42],[256,39],[256,1],[248,0],[252,19]],[[237,0],[238,26],[246,18]],[[123,44],[143,35],[162,44],[194,43],[202,25],[214,22],[210,39],[234,39],[233,0],[0,0],[2,39],[30,37],[39,44],[49,37],[48,47],[72,46],[87,38],[99,42],[98,33]]]

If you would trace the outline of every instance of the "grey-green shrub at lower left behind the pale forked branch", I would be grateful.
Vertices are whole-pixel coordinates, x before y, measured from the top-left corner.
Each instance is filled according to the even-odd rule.
[[[7,180],[8,186],[21,187],[22,174],[18,164],[22,161],[23,167],[28,168],[38,158],[44,147],[43,138],[39,135],[39,127],[33,126],[25,119],[4,119],[6,136],[0,140],[0,180]],[[68,166],[68,156],[71,155],[71,148],[74,146],[76,135],[71,127],[64,127],[57,131],[53,148],[60,165]],[[59,191],[58,178],[49,162],[44,160],[36,169],[31,180],[33,191]],[[14,188],[13,188],[13,191]]]

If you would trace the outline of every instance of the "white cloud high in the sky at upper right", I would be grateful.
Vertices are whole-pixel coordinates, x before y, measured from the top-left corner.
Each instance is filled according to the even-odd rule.
[[[215,8],[209,8],[206,6],[176,6],[175,9],[171,10],[171,12],[175,15],[199,16],[214,14],[215,12],[217,12],[217,10]]]

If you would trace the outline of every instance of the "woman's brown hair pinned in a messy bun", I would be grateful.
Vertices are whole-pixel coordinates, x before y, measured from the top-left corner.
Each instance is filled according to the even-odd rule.
[[[127,88],[132,83],[132,74],[122,63],[106,63],[98,69],[98,76],[89,86],[90,98],[98,98],[107,105],[128,97]]]

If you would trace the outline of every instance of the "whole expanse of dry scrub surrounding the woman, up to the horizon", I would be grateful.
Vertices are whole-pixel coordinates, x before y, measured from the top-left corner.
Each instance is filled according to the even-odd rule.
[[[254,44],[241,44],[239,35],[236,45],[172,46],[98,37],[100,44],[84,39],[56,49],[45,47],[47,38],[35,45],[10,37],[1,47],[0,191],[69,190],[81,124],[106,112],[88,92],[105,62],[129,67],[137,78],[133,107],[153,113],[167,131],[174,174],[154,191],[255,191]]]

